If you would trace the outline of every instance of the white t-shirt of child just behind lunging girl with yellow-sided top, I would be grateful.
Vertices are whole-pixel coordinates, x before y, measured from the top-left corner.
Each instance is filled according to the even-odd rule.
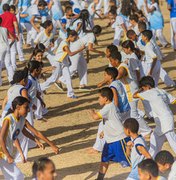
[[[34,40],[34,43],[37,44],[37,43],[42,43],[46,48],[49,47],[50,45],[50,41],[54,38],[53,36],[53,33],[50,34],[50,36],[48,36],[46,33],[45,33],[45,30],[41,31],[37,37],[35,38]]]

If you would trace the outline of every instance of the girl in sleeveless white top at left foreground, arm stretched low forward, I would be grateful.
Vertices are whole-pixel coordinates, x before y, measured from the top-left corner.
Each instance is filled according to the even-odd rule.
[[[29,110],[29,101],[24,97],[16,97],[12,102],[12,109],[9,109],[7,116],[3,119],[0,131],[0,168],[5,179],[23,180],[24,176],[14,163],[14,147],[13,142],[19,138],[22,143],[22,137],[27,136],[35,141],[40,147],[42,144],[37,138],[45,141],[51,146],[53,151],[57,154],[59,152],[50,140],[43,136],[39,131],[33,128],[25,119]],[[32,134],[34,134],[34,136]],[[37,138],[36,138],[37,137]],[[28,138],[25,138],[26,140]],[[25,144],[27,145],[27,144]],[[22,147],[22,150],[24,147]]]

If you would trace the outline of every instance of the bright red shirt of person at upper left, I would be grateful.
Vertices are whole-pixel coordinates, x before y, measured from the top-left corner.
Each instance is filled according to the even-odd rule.
[[[2,18],[2,23],[1,26],[4,28],[7,28],[7,30],[14,36],[15,36],[15,27],[14,27],[14,22],[17,22],[17,18],[14,14],[10,12],[4,12],[3,14],[0,15]]]

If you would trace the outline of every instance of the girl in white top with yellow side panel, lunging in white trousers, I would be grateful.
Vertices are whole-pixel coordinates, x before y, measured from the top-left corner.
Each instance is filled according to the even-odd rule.
[[[76,31],[73,30],[68,30],[68,37],[66,40],[62,40],[58,47],[55,50],[55,55],[50,55],[47,56],[47,58],[51,58],[54,63],[52,66],[55,66],[56,69],[53,71],[53,74],[50,78],[46,80],[46,82],[41,84],[41,89],[42,91],[46,90],[50,84],[56,82],[60,77],[60,81],[63,83],[66,83],[67,86],[67,97],[69,98],[76,98],[73,92],[72,88],[72,83],[71,83],[71,77],[70,77],[70,71],[69,71],[69,66],[70,66],[70,61],[69,61],[69,56],[74,56],[75,54],[81,52],[85,47],[82,46],[80,49],[72,52],[70,50],[70,43],[74,42],[77,38],[78,34]]]

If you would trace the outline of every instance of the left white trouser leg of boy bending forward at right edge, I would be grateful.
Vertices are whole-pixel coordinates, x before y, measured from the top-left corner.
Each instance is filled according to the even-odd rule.
[[[166,140],[166,136],[158,136],[155,132],[152,132],[150,136],[150,155],[155,158],[156,154],[161,151],[164,141]]]

